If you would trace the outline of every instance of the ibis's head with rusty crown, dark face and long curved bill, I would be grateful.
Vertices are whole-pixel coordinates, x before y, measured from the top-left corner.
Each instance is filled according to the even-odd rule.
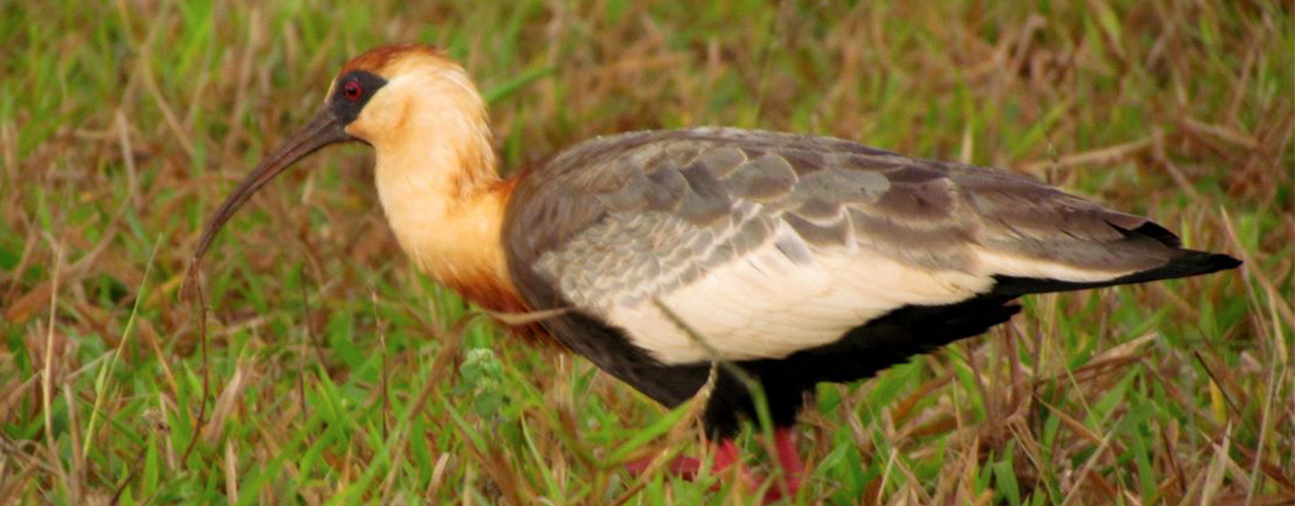
[[[350,141],[374,146],[381,157],[385,148],[409,144],[411,136],[418,135],[455,137],[447,140],[453,142],[465,142],[457,137],[470,136],[488,146],[484,102],[467,72],[423,44],[381,45],[351,58],[330,83],[315,118],[271,151],[212,215],[192,267],[198,265],[229,217],[298,160],[330,144]],[[491,157],[488,149],[486,157]]]

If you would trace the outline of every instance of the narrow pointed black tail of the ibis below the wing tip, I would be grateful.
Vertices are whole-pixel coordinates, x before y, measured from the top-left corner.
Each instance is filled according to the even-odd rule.
[[[1185,278],[1212,272],[1235,269],[1241,260],[1224,254],[1208,251],[1178,250],[1181,254],[1167,264],[1154,269],[1136,272],[1110,281],[1074,282],[1059,280],[1026,278],[1015,276],[995,276],[995,294],[1019,296],[1026,294],[1048,294],[1054,291],[1101,289],[1115,285],[1145,283],[1156,280]]]

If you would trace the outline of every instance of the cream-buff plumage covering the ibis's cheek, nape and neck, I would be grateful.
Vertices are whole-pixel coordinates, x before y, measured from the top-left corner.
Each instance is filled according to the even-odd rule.
[[[484,102],[443,58],[408,58],[347,132],[377,151],[378,198],[400,247],[443,283],[508,278],[500,232],[508,188]]]

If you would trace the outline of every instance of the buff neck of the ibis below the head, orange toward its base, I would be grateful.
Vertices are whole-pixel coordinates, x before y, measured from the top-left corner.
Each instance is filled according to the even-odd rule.
[[[519,311],[501,243],[513,184],[495,168],[484,110],[409,111],[399,132],[374,142],[378,198],[413,263],[492,311]]]

